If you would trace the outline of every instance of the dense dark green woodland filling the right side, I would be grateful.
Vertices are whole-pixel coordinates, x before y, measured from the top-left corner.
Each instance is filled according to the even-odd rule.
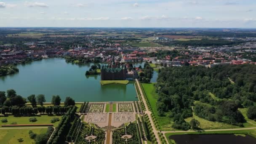
[[[187,130],[184,118],[192,116],[195,105],[199,117],[243,126],[245,119],[237,109],[255,104],[255,74],[256,65],[251,64],[161,69],[155,85],[158,114],[173,118],[173,128]]]

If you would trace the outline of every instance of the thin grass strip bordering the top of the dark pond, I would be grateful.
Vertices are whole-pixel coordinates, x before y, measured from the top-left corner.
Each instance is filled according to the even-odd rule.
[[[180,134],[244,134],[250,135],[256,138],[256,129],[250,130],[232,130],[232,131],[204,131],[204,132],[182,132],[182,133],[165,133],[166,138],[168,139],[169,144],[173,144],[173,141],[169,139],[169,136],[180,135]]]

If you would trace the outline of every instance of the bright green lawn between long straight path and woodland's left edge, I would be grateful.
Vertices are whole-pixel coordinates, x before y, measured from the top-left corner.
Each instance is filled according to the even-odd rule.
[[[157,93],[155,93],[154,83],[142,83],[142,87],[144,88],[147,98],[149,99],[149,104],[152,107],[152,112],[154,112],[157,122],[160,125],[160,130],[172,131],[173,128],[171,128],[171,125],[173,122],[171,121],[171,118],[167,116],[160,117],[157,115]]]

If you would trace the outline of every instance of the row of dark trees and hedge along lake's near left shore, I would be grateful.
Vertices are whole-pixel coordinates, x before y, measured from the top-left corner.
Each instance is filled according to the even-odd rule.
[[[27,101],[28,100],[28,101]],[[32,107],[26,106],[25,104],[29,102]],[[66,97],[64,101],[64,107],[61,107],[60,96],[52,96],[51,104],[53,106],[44,107],[45,96],[39,94],[35,96],[34,94],[26,98],[16,94],[14,90],[0,91],[0,112],[3,115],[11,113],[12,115],[36,115],[37,113],[47,113],[48,115],[56,114],[62,115],[67,112],[70,108],[69,106],[74,106],[75,101]]]

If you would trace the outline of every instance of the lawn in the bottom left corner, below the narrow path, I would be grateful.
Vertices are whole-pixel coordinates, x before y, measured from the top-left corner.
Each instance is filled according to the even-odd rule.
[[[29,138],[29,130],[34,133],[46,133],[47,128],[32,129],[0,129],[1,144],[35,144],[33,139]],[[17,139],[22,138],[24,141],[19,143]]]

